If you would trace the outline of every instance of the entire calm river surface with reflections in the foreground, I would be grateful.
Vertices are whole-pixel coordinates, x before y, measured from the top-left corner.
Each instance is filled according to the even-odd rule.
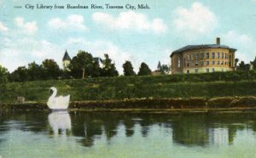
[[[256,157],[256,113],[2,113],[0,155]]]

